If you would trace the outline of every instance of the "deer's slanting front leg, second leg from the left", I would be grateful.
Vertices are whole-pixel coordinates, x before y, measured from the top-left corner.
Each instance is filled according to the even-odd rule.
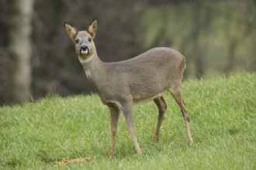
[[[137,141],[137,137],[135,134],[135,128],[134,128],[134,124],[133,124],[133,105],[130,103],[127,103],[127,104],[123,104],[122,106],[123,106],[123,114],[124,114],[124,117],[126,118],[127,128],[128,128],[130,137],[133,140],[133,144],[135,145],[137,154],[140,155],[141,149],[140,149],[140,145]]]

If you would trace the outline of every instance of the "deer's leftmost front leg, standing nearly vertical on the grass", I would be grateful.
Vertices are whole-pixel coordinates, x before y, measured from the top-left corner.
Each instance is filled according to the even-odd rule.
[[[111,115],[111,133],[112,133],[112,145],[111,145],[111,155],[110,158],[113,158],[116,155],[116,133],[118,130],[118,120],[120,115],[120,110],[118,107],[111,106],[109,107]]]

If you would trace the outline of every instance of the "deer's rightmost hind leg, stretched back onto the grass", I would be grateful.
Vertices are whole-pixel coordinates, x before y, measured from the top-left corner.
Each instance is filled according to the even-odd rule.
[[[187,130],[189,143],[192,144],[193,139],[192,139],[192,134],[191,134],[190,125],[189,125],[189,113],[188,113],[188,110],[187,110],[184,100],[182,100],[181,88],[180,88],[180,86],[178,86],[178,87],[171,88],[168,91],[171,93],[172,97],[175,98],[178,106],[181,108],[182,115],[183,115],[184,121],[185,121],[185,126],[186,126],[186,130]]]

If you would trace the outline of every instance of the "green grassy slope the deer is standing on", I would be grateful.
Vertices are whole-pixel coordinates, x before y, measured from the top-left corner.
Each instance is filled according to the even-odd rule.
[[[31,104],[0,108],[0,169],[255,169],[256,74],[237,73],[210,80],[188,80],[183,96],[194,145],[188,145],[177,104],[164,94],[168,111],[160,141],[150,141],[157,107],[134,108],[137,156],[119,121],[117,155],[109,160],[110,117],[99,97],[50,96]],[[63,159],[88,163],[56,166]]]

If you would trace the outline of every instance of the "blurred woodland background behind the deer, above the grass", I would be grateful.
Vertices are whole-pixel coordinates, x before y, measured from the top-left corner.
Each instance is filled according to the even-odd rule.
[[[93,93],[64,22],[99,19],[102,61],[178,49],[185,80],[256,70],[254,0],[0,0],[0,105]]]

